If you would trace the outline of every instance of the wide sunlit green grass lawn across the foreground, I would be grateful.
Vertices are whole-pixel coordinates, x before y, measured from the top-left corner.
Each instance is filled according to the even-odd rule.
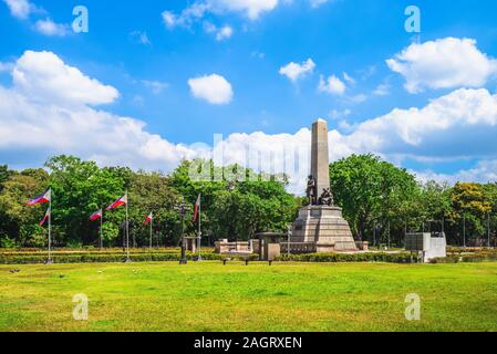
[[[0,266],[0,331],[497,331],[497,263]]]

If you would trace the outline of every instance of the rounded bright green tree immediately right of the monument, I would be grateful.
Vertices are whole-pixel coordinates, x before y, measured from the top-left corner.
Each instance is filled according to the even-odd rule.
[[[335,202],[358,238],[371,240],[376,225],[385,235],[404,230],[418,194],[413,175],[377,156],[352,155],[331,164],[330,176]]]

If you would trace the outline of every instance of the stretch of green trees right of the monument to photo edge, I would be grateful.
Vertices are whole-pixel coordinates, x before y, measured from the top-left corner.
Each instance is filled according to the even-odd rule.
[[[454,246],[495,246],[497,184],[418,183],[373,155],[330,166],[332,190],[359,239],[402,247],[406,232],[442,232]]]

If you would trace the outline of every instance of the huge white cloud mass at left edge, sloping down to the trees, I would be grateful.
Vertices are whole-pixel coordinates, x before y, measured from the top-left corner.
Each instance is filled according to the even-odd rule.
[[[204,154],[203,146],[174,145],[141,121],[91,107],[114,101],[117,91],[53,53],[25,52],[12,75],[11,88],[0,85],[0,152],[75,154],[103,165],[163,170]]]

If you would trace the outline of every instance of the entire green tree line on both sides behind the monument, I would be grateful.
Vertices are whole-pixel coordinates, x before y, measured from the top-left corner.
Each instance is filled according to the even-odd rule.
[[[0,166],[0,247],[40,248],[46,230],[39,226],[45,207],[30,208],[28,199],[52,188],[52,232],[56,247],[99,244],[100,222],[89,217],[105,208],[125,190],[130,199],[132,246],[148,244],[149,230],[143,221],[154,212],[154,244],[177,246],[182,218],[175,206],[193,205],[201,195],[205,239],[247,240],[260,231],[286,232],[306,205],[303,197],[286,190],[287,178],[272,176],[238,183],[196,181],[189,177],[194,162],[183,162],[173,173],[134,171],[127,167],[99,167],[74,156],[55,156],[43,168],[11,170]],[[204,165],[205,164],[200,164]],[[249,176],[239,166],[220,168],[207,164],[214,174]],[[403,246],[407,231],[444,230],[453,244],[486,244],[487,229],[494,244],[497,227],[497,184],[458,183],[454,186],[420,184],[407,170],[373,155],[350,156],[330,165],[335,202],[358,239],[371,243]],[[262,178],[265,177],[265,178]],[[186,232],[195,235],[190,215]],[[124,210],[104,212],[105,247],[121,247]]]

